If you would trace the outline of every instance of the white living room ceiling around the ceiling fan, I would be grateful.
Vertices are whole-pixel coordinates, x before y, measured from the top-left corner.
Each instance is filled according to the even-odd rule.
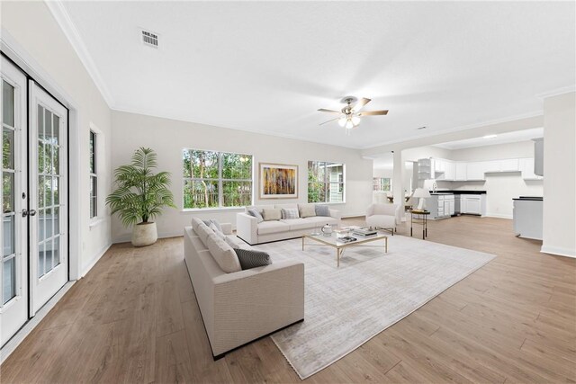
[[[344,147],[542,113],[576,83],[574,2],[64,6],[113,109]],[[390,113],[319,127],[347,94]]]

